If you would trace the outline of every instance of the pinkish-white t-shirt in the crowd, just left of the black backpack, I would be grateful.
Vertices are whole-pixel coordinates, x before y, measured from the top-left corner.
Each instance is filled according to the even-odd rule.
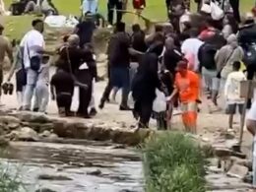
[[[195,37],[186,39],[181,45],[181,52],[183,54],[193,54],[195,58],[194,71],[198,71],[199,68],[198,51],[203,43],[204,42],[202,40]]]

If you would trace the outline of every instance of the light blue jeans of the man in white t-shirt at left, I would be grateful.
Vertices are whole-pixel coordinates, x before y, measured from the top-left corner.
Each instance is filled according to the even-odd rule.
[[[23,109],[31,110],[33,91],[38,79],[38,73],[32,69],[27,69],[27,85],[23,97]]]

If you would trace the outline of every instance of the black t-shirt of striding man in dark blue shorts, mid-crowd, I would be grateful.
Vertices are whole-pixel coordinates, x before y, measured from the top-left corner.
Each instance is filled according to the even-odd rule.
[[[129,67],[131,38],[126,32],[116,32],[108,44],[108,58],[110,66]]]

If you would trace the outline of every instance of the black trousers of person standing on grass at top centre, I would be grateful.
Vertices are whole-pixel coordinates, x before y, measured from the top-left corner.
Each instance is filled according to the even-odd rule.
[[[108,0],[107,3],[107,21],[108,24],[113,25],[113,17],[114,17],[114,9],[122,10],[123,3],[120,0]],[[116,23],[120,23],[122,21],[122,12],[116,11]]]

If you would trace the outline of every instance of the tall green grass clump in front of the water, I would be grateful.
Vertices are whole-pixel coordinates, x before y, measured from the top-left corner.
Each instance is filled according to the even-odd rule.
[[[181,133],[151,138],[144,148],[146,192],[204,192],[206,160],[202,150]]]

